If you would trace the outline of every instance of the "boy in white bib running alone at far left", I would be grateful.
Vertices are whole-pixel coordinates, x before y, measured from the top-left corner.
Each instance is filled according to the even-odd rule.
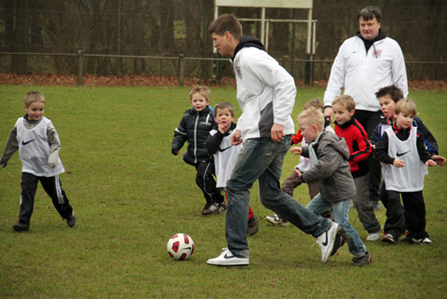
[[[0,158],[0,165],[6,167],[13,153],[19,150],[22,163],[21,211],[19,223],[13,229],[17,232],[30,230],[38,181],[51,197],[55,209],[72,227],[76,224],[76,218],[59,180],[59,175],[65,171],[59,158],[61,142],[55,126],[44,116],[44,96],[38,91],[29,92],[23,108],[27,114],[15,123]]]

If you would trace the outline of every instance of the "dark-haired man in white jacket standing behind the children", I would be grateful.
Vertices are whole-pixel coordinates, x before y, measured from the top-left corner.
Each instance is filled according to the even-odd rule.
[[[325,116],[333,118],[332,103],[344,94],[356,102],[354,117],[371,137],[382,116],[377,90],[394,84],[407,98],[409,93],[405,61],[399,44],[388,38],[381,29],[382,13],[377,7],[367,6],[358,11],[359,32],[346,39],[339,49],[325,91]],[[370,199],[380,209],[380,164],[369,158]],[[378,207],[377,207],[378,204]]]

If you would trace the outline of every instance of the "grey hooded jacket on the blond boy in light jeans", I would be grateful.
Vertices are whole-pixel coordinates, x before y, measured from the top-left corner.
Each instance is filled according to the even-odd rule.
[[[318,163],[302,174],[302,181],[320,181],[320,193],[325,201],[345,201],[356,193],[354,179],[350,174],[350,149],[343,138],[334,132],[323,131],[313,143]],[[303,148],[303,157],[309,158],[308,147]]]

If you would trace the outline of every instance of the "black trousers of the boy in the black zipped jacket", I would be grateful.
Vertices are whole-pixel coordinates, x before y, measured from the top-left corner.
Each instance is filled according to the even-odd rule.
[[[215,162],[200,162],[196,165],[196,169],[196,184],[203,192],[207,203],[224,201],[221,191],[215,186]]]

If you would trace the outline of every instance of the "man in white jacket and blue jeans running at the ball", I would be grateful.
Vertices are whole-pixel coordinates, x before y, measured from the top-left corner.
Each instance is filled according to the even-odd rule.
[[[257,38],[242,36],[240,22],[223,14],[210,25],[215,47],[232,57],[237,98],[242,115],[232,133],[232,144],[244,141],[231,179],[227,182],[228,209],[225,236],[228,248],[215,259],[216,266],[249,265],[247,225],[249,189],[259,180],[260,201],[303,232],[316,237],[326,262],[333,252],[338,225],[309,212],[280,188],[283,159],[291,145],[291,112],[296,87],[291,75],[266,54]]]

